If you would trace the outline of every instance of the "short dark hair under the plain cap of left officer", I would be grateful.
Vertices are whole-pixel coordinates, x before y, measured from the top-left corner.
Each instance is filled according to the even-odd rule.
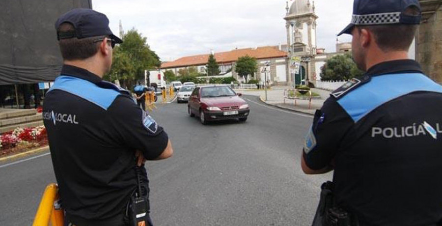
[[[57,32],[60,31],[75,31],[75,28],[70,23],[62,23],[57,29]],[[103,37],[105,36],[60,39],[58,45],[60,47],[61,56],[65,60],[87,59],[92,57],[100,48],[100,44],[95,42],[95,40]]]

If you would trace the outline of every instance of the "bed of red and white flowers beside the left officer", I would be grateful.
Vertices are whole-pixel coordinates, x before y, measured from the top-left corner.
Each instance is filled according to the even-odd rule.
[[[17,128],[0,135],[0,156],[11,155],[48,145],[48,135],[44,126]]]

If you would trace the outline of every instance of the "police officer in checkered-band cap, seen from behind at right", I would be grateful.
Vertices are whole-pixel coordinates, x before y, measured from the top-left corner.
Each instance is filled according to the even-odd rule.
[[[420,19],[418,0],[355,0],[339,33],[366,73],[331,93],[304,143],[305,173],[334,170],[325,225],[442,224],[442,86],[408,59]]]

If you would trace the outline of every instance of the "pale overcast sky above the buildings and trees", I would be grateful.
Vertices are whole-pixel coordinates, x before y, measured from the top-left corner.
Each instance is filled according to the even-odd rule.
[[[289,1],[289,6],[294,0]],[[136,28],[163,61],[287,44],[286,0],[92,0],[118,35]],[[315,0],[317,46],[335,52],[336,34],[350,22],[353,0]],[[350,35],[339,37],[351,41]]]

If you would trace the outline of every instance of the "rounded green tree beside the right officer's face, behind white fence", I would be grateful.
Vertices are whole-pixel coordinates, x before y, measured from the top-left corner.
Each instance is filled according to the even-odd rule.
[[[339,81],[357,78],[363,75],[350,54],[337,55],[326,61],[321,67],[322,81]]]

